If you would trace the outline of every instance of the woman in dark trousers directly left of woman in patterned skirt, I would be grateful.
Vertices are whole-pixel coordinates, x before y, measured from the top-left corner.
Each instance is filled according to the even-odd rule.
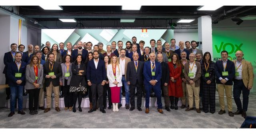
[[[64,95],[64,110],[72,110],[73,107],[73,97],[70,90],[70,81],[72,77],[72,58],[70,55],[65,55],[63,57],[63,63],[60,64],[62,69],[62,76],[60,77],[60,85],[63,86],[63,95]]]

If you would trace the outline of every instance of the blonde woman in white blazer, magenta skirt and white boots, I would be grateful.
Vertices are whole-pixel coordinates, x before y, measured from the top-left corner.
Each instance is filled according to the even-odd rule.
[[[107,77],[111,90],[111,101],[113,104],[113,112],[118,112],[118,102],[120,101],[120,88],[122,87],[122,68],[114,55],[110,59],[110,64],[107,67]]]

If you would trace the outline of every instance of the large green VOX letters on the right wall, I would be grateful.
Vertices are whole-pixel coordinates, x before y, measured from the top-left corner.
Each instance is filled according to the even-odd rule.
[[[218,45],[214,45],[217,53],[220,53],[221,51],[223,50],[226,50],[228,51],[228,54],[231,54],[231,53],[234,53],[238,50],[241,50],[241,47],[242,47],[243,43],[240,43],[240,45],[237,45],[237,44],[232,44],[232,43],[224,43],[223,41],[220,43],[220,46],[218,47]],[[227,49],[227,48],[231,48],[231,49]]]

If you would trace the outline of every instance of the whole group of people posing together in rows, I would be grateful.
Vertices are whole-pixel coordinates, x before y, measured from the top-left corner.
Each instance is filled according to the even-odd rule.
[[[4,74],[7,97],[10,97],[10,114],[15,114],[14,107],[18,98],[18,114],[25,114],[22,110],[22,94],[26,89],[29,94],[30,114],[38,114],[37,108],[49,112],[51,110],[52,92],[54,93],[54,106],[59,108],[60,87],[64,95],[64,110],[82,112],[82,93],[88,92],[90,110],[94,112],[100,108],[105,113],[108,109],[118,112],[122,106],[122,92],[125,95],[125,108],[130,111],[136,108],[142,111],[142,96],[145,95],[145,113],[149,113],[150,95],[154,93],[157,98],[157,110],[163,114],[161,96],[164,97],[165,109],[178,110],[178,101],[181,98],[182,106],[186,111],[194,109],[200,113],[202,110],[214,113],[215,93],[218,89],[220,111],[224,114],[224,93],[227,99],[228,114],[242,114],[246,117],[248,96],[254,79],[252,64],[243,59],[244,53],[236,51],[236,60],[228,59],[228,52],[222,51],[219,61],[214,63],[211,53],[202,53],[196,48],[196,41],[180,41],[178,46],[175,39],[171,45],[161,40],[150,40],[151,47],[144,47],[145,42],[112,41],[111,45],[103,50],[103,43],[94,45],[78,41],[77,49],[72,48],[70,42],[53,44],[50,42],[40,48],[38,45],[28,45],[28,51],[23,52],[25,46],[13,43],[11,51],[4,55]],[[157,43],[157,47],[155,47]],[[116,49],[116,45],[118,49]],[[186,48],[185,48],[186,46]],[[190,47],[191,46],[191,47]],[[16,51],[18,47],[18,52]],[[60,47],[60,49],[58,48]],[[84,49],[83,49],[84,47]],[[237,111],[232,112],[232,85]],[[46,89],[46,108],[44,108],[44,87]],[[124,90],[122,90],[124,87]],[[9,91],[8,91],[9,90]],[[243,104],[240,94],[243,93]],[[201,97],[201,99],[200,99]],[[187,106],[186,106],[187,104]]]

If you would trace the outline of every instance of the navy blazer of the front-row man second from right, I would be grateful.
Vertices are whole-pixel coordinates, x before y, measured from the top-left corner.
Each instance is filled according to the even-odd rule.
[[[235,77],[235,64],[234,62],[230,61],[229,59],[227,59],[227,66],[226,66],[226,70],[228,71],[228,76],[222,76],[222,72],[224,71],[224,67],[222,64],[222,61],[216,61],[215,63],[215,75],[216,75],[216,83],[217,84],[222,84],[219,80],[220,77],[222,77],[223,79],[227,78],[228,81],[225,83],[225,85],[233,85],[233,79]]]

